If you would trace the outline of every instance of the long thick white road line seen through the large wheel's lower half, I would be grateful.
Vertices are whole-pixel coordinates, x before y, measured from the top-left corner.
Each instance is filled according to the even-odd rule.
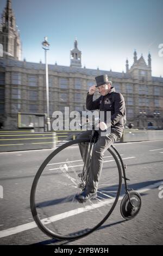
[[[159,187],[160,185],[163,185],[163,180],[159,181],[159,182],[156,182],[152,185],[140,188],[139,190],[136,190],[136,191],[139,192],[139,193],[145,193],[145,192],[147,192],[147,191],[149,191],[153,188]],[[122,200],[123,196],[119,197],[118,200]],[[49,218],[45,218],[42,221],[44,223],[48,224],[50,222],[55,222],[55,221],[58,221],[58,220],[62,220],[64,218],[67,218],[67,217],[70,217],[70,216],[73,216],[73,215],[77,215],[77,214],[80,214],[82,212],[89,211],[91,209],[100,208],[105,204],[109,204],[109,203],[113,202],[114,200],[115,199],[106,199],[105,201],[102,201],[100,203],[92,204],[92,205],[89,205],[89,206],[86,206],[86,207],[78,208],[76,210],[63,212],[62,214],[58,214],[58,215],[54,215],[54,216],[49,217]],[[36,227],[37,227],[37,225],[33,221],[33,222],[30,222],[30,223],[18,225],[17,227],[14,227],[14,228],[1,230],[0,231],[0,238],[6,237],[6,236],[9,236],[9,235],[14,235],[14,234],[20,233],[22,231],[29,230],[29,229],[36,228]]]

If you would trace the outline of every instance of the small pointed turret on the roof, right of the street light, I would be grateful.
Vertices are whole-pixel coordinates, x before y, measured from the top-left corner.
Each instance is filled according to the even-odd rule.
[[[82,52],[78,50],[78,42],[76,39],[74,41],[74,49],[71,50],[71,53],[70,53],[70,58],[71,58],[70,66],[72,66],[73,68],[74,67],[81,68],[81,66],[82,66],[81,56],[82,56]]]

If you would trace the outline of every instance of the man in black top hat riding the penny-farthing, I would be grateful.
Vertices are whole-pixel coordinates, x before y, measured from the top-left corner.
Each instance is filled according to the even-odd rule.
[[[108,80],[108,75],[101,75],[95,77],[96,86],[93,85],[89,89],[89,93],[86,96],[86,108],[88,110],[99,109],[99,111],[111,112],[111,120],[104,119],[98,124],[98,140],[92,151],[89,179],[85,190],[76,195],[76,199],[80,202],[86,202],[88,199],[95,198],[97,196],[98,182],[103,166],[104,152],[118,139],[122,137],[123,132],[123,117],[125,114],[125,101],[121,93],[116,93],[115,88],[111,87],[112,82]],[[93,101],[93,94],[98,89],[101,96]],[[111,126],[111,127],[110,127]],[[102,132],[109,130],[111,132],[103,136]],[[77,138],[88,138],[92,131],[88,130],[81,133]],[[80,153],[84,160],[86,143],[79,143]]]

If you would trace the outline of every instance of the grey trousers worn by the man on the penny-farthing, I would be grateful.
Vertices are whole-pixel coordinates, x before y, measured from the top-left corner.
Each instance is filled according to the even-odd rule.
[[[105,151],[113,144],[117,139],[120,137],[116,135],[116,133],[111,132],[107,136],[101,136],[100,132],[98,141],[95,144],[95,147],[92,150],[92,156],[91,156],[91,163],[90,163],[90,170],[89,170],[89,179],[87,182],[86,190],[88,192],[90,191],[97,191],[98,188],[98,182],[101,176],[102,167],[103,167],[103,155]],[[85,131],[80,133],[80,135],[77,136],[77,139],[81,138],[89,138],[89,136],[92,134],[92,131]],[[79,149],[80,154],[82,155],[82,159],[85,162],[85,151],[87,148],[87,142],[79,143]]]

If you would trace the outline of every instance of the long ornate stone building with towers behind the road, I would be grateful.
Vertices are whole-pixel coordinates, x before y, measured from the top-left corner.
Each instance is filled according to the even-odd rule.
[[[0,57],[0,125],[17,127],[17,112],[46,113],[45,64],[20,60],[21,43],[11,1],[2,15],[0,43],[4,54]],[[12,40],[11,40],[12,39]],[[48,65],[50,117],[54,111],[84,110],[89,87],[95,84],[95,76],[108,74],[117,92],[126,100],[127,123],[135,127],[156,126],[162,128],[163,78],[152,76],[152,59],[147,63],[143,56],[137,58],[126,72],[112,72],[82,68],[82,52],[78,42],[70,52],[70,66]],[[96,94],[95,97],[98,95]]]

